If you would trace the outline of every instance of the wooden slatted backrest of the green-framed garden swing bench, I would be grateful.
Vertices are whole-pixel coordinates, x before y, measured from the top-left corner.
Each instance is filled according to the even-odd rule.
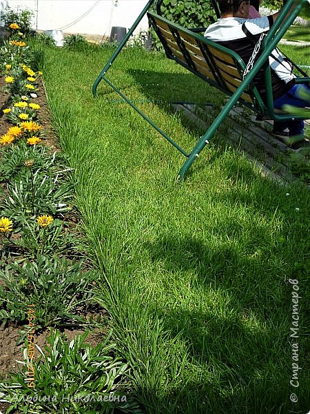
[[[231,96],[236,92],[242,83],[245,70],[245,63],[240,56],[158,14],[148,12],[147,16],[169,59],[173,59],[226,95]],[[267,115],[267,108],[253,83],[242,92],[239,101],[260,115]]]

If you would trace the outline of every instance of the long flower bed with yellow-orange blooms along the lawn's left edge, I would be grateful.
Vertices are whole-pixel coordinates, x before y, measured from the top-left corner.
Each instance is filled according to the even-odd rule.
[[[105,311],[92,304],[96,275],[79,247],[70,168],[50,128],[42,73],[19,30],[8,25],[0,50],[0,353],[8,377],[0,410],[69,413],[76,396],[81,410],[90,396],[98,409],[122,409],[129,405],[114,383],[127,365],[112,356]]]

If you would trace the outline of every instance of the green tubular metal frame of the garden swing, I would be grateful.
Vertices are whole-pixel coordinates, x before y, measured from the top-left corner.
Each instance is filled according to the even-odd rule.
[[[217,15],[217,17],[219,17],[219,10],[218,10],[216,0],[211,0],[211,1],[214,4],[214,9],[216,11],[216,15]],[[192,148],[191,152],[187,153],[171,137],[169,137],[163,130],[161,130],[161,128],[156,126],[156,124],[154,124],[152,119],[147,117],[147,115],[145,115],[134,104],[134,102],[132,102],[128,97],[126,97],[123,94],[123,92],[121,92],[121,90],[119,90],[109,79],[107,79],[106,74],[107,74],[107,71],[112,66],[112,63],[114,62],[114,60],[116,59],[118,54],[123,49],[123,47],[127,43],[128,39],[130,39],[130,36],[132,35],[134,30],[138,26],[138,23],[140,23],[141,19],[143,19],[143,17],[145,16],[145,14],[147,12],[148,12],[149,20],[151,21],[151,23],[153,23],[153,25],[154,25],[154,19],[158,19],[158,21],[163,21],[163,23],[167,24],[169,26],[169,28],[172,28],[173,34],[176,32],[176,40],[177,41],[178,41],[177,32],[181,31],[182,33],[185,33],[185,35],[190,35],[193,39],[195,39],[195,41],[199,45],[202,45],[203,48],[207,48],[208,45],[209,46],[211,45],[212,47],[216,47],[218,50],[222,49],[224,52],[231,55],[232,59],[234,59],[234,61],[236,61],[236,64],[238,66],[238,70],[240,70],[240,72],[245,70],[245,63],[242,61],[242,59],[235,52],[233,52],[233,51],[231,51],[227,48],[223,48],[223,46],[220,46],[217,43],[208,41],[207,39],[205,39],[201,35],[197,34],[196,32],[198,32],[199,29],[198,30],[185,29],[181,26],[178,26],[176,23],[173,23],[173,22],[161,17],[161,3],[162,2],[163,2],[163,0],[157,0],[157,1],[156,0],[149,0],[149,1],[147,1],[147,4],[145,5],[143,10],[141,11],[139,16],[137,17],[134,24],[132,25],[132,28],[130,28],[130,30],[127,32],[126,36],[121,41],[121,43],[118,45],[118,47],[116,48],[116,50],[113,53],[112,57],[110,57],[109,61],[107,61],[107,63],[105,64],[103,70],[101,70],[99,76],[94,81],[94,84],[92,86],[92,93],[93,93],[94,96],[96,95],[97,87],[98,87],[99,83],[101,82],[101,80],[104,80],[112,89],[114,89],[115,92],[118,93],[118,95],[120,95],[124,99],[125,102],[127,102],[132,108],[134,108],[134,110],[136,110],[136,112],[138,112],[138,114],[140,114],[156,131],[158,131],[165,139],[167,139],[167,141],[169,141],[170,144],[172,144],[179,152],[181,152],[187,159],[186,159],[183,166],[180,168],[180,170],[178,172],[178,179],[180,179],[180,180],[184,179],[185,174],[186,174],[187,170],[189,169],[189,167],[192,166],[195,159],[197,159],[199,157],[200,152],[203,150],[203,148],[205,148],[205,146],[207,144],[209,144],[209,140],[212,137],[214,137],[214,134],[216,133],[216,130],[218,130],[220,124],[223,123],[224,119],[229,114],[229,111],[231,110],[231,108],[234,107],[234,105],[236,105],[237,101],[241,101],[242,103],[247,104],[247,102],[242,100],[242,94],[246,90],[251,92],[251,94],[253,96],[253,101],[255,103],[255,105],[250,105],[250,108],[252,108],[254,111],[260,113],[260,115],[267,115],[267,117],[269,117],[269,119],[274,119],[276,121],[285,121],[285,120],[292,120],[292,119],[304,119],[303,117],[296,117],[296,115],[289,115],[289,114],[284,114],[284,113],[279,114],[279,113],[275,112],[275,110],[273,108],[273,92],[272,92],[272,86],[271,86],[271,72],[270,72],[269,65],[266,65],[266,68],[265,68],[265,86],[266,86],[266,91],[267,91],[267,99],[266,99],[265,103],[262,101],[258,91],[256,90],[256,88],[253,85],[253,80],[254,80],[254,77],[256,76],[258,70],[260,70],[260,68],[262,68],[264,63],[269,58],[269,55],[271,54],[272,50],[274,48],[276,48],[276,46],[278,45],[280,39],[282,39],[285,32],[287,32],[289,26],[291,26],[291,23],[296,19],[296,17],[298,16],[298,14],[299,14],[300,10],[302,9],[302,7],[304,6],[304,4],[307,3],[307,0],[288,0],[287,3],[285,4],[285,6],[282,8],[282,10],[280,12],[280,16],[278,17],[278,19],[276,19],[275,23],[273,24],[273,26],[269,30],[267,36],[265,37],[265,40],[262,42],[262,52],[260,53],[260,57],[258,57],[256,63],[253,66],[253,68],[250,70],[250,72],[245,77],[245,79],[240,83],[240,86],[238,86],[236,91],[234,93],[229,94],[231,96],[230,96],[229,100],[227,101],[227,103],[225,104],[225,106],[222,108],[222,110],[220,110],[220,113],[218,114],[218,116],[214,119],[213,123],[209,126],[209,128],[207,128],[207,130],[205,131],[205,134],[202,137],[200,137],[199,141],[196,143],[194,148]],[[293,11],[289,15],[287,15],[293,4],[296,4],[296,7],[293,9]],[[157,14],[154,13],[154,12],[149,11],[151,8],[152,9],[156,8]],[[284,19],[285,19],[284,23],[281,24],[282,20],[284,20]],[[156,26],[154,28],[156,28]],[[161,33],[159,33],[159,37],[161,39]],[[220,88],[220,86],[218,84],[215,85],[214,82],[212,82],[210,79],[207,79],[207,77],[205,77],[204,75],[199,73],[197,70],[195,70],[195,68],[193,68],[193,65],[191,65],[190,62],[189,62],[189,64],[187,64],[187,63],[184,63],[183,61],[178,61],[178,59],[175,56],[171,56],[171,53],[169,53],[169,48],[167,48],[167,44],[165,44],[165,39],[161,39],[161,41],[162,41],[163,46],[165,48],[165,52],[166,52],[167,57],[169,57],[170,59],[176,60],[182,66],[189,69],[191,72],[195,73],[196,75],[198,75],[198,76],[202,77],[203,79],[205,79],[206,81],[208,81],[208,83],[210,83],[211,85],[213,85],[217,88]],[[304,73],[303,73],[303,75],[304,75]],[[309,77],[297,77],[296,78],[296,83],[303,83],[303,82],[309,82],[309,81],[310,81]],[[227,90],[224,90],[224,91],[227,92]]]

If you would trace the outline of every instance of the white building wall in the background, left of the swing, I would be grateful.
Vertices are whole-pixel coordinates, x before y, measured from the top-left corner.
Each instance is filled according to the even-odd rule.
[[[112,26],[130,28],[147,0],[0,0],[0,11],[32,10],[32,28],[110,36]],[[147,30],[144,17],[136,32]]]

